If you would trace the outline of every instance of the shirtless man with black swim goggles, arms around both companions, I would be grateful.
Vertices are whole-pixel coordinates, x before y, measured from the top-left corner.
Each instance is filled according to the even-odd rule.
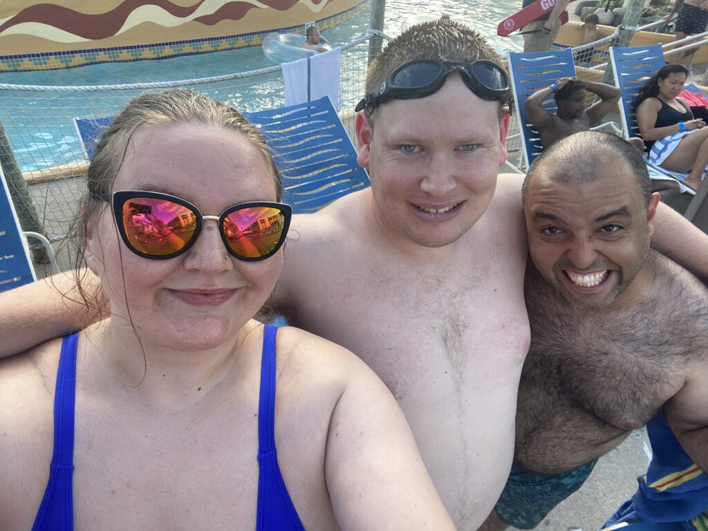
[[[386,101],[371,96],[398,69],[417,76],[418,61],[438,67],[407,85],[417,89]],[[371,188],[293,217],[298,236],[285,246],[275,292],[293,324],[357,353],[392,390],[464,530],[484,522],[506,482],[530,342],[521,178],[497,176],[509,125],[498,64],[479,33],[447,17],[389,42],[370,65],[367,108],[355,119]],[[391,84],[406,87],[404,77]],[[675,228],[680,217],[657,217],[664,217],[657,233],[674,249],[706,248],[687,222]],[[698,257],[694,265],[707,264]],[[44,330],[59,334],[86,321],[67,316],[56,297],[49,302],[46,288],[18,292],[0,300],[13,308],[0,311],[4,353],[28,346],[33,300],[42,301],[35,313]],[[11,321],[17,313],[24,318]]]

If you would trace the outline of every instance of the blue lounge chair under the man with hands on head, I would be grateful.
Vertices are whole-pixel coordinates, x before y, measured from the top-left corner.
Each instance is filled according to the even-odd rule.
[[[508,52],[508,60],[514,107],[523,145],[524,164],[528,168],[543,151],[543,148],[541,147],[538,131],[531,125],[524,105],[529,96],[544,86],[555,83],[561,77],[576,76],[575,64],[573,64],[573,50],[565,48],[564,50],[552,50],[550,52]],[[557,110],[556,102],[553,98],[548,98],[544,101],[543,108],[549,113],[555,113]],[[615,122],[603,123],[593,127],[593,130],[603,127],[610,127],[617,135],[622,133],[622,130],[619,129]]]

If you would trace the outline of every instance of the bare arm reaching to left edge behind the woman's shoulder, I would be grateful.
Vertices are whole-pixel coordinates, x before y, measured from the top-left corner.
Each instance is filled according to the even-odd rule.
[[[101,297],[101,281],[86,270],[89,297]],[[101,303],[103,304],[103,302]],[[84,303],[72,273],[0,293],[0,358],[21,353],[43,341],[85,328],[99,319],[99,311]]]

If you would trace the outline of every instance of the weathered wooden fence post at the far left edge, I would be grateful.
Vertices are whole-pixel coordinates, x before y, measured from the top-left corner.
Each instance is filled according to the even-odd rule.
[[[27,183],[22,177],[22,172],[17,164],[15,156],[10,147],[10,139],[7,137],[5,128],[0,123],[0,166],[10,190],[12,202],[15,204],[17,217],[20,220],[22,230],[25,232],[38,232],[46,236],[45,229],[40,223],[35,210],[35,204],[27,189]],[[47,263],[47,253],[44,249],[33,249],[32,256],[38,263]]]

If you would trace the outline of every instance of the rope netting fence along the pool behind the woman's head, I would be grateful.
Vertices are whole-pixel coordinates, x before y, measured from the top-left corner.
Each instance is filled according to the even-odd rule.
[[[350,136],[353,136],[354,107],[364,96],[365,80],[360,72],[366,72],[368,41],[377,34],[382,35],[367,32],[342,47],[341,117]],[[89,160],[74,118],[112,117],[141,93],[178,87],[200,91],[244,111],[285,105],[280,65],[206,79],[159,83],[0,84],[0,161],[23,229],[43,233],[53,243],[64,239],[76,216]]]

